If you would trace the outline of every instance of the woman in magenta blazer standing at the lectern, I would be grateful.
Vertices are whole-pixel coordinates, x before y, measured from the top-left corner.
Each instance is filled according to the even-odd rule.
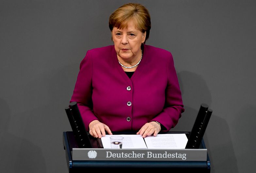
[[[114,45],[88,50],[73,91],[86,129],[101,138],[136,131],[143,138],[169,131],[184,112],[170,52],[145,45],[151,20],[140,4],[109,17]]]

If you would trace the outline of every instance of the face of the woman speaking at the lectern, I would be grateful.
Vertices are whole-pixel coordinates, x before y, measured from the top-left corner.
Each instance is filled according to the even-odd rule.
[[[114,27],[112,37],[119,58],[124,61],[132,61],[141,57],[140,46],[145,41],[146,32],[142,33],[136,29],[133,21],[130,21],[127,28],[124,29]]]

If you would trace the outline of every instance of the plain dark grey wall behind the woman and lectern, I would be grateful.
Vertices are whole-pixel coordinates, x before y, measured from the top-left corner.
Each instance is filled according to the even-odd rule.
[[[88,49],[112,44],[108,17],[127,2],[0,1],[1,172],[68,172],[64,108],[80,61]],[[206,103],[211,172],[255,172],[256,2],[133,2],[150,11],[147,44],[174,57],[185,112],[172,131],[190,131]]]

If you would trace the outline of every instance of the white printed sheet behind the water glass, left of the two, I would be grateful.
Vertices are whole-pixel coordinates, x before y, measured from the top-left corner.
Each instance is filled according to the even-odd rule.
[[[110,137],[111,136],[122,136],[123,144],[122,148],[147,148],[145,141],[143,140],[141,135],[105,135],[101,138],[102,144],[104,148],[111,148],[110,145]]]

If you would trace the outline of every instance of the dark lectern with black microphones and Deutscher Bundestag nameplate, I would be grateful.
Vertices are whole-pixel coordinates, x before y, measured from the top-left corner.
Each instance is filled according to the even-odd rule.
[[[178,150],[104,149],[101,139],[93,138],[86,132],[77,103],[70,103],[65,110],[72,127],[72,131],[63,132],[63,146],[70,173],[97,170],[163,171],[162,169],[172,172],[210,172],[210,159],[203,141],[203,134],[212,114],[207,104],[201,104],[191,132],[165,132],[186,134],[188,138],[186,147]],[[136,134],[136,132],[112,133],[113,135]]]

